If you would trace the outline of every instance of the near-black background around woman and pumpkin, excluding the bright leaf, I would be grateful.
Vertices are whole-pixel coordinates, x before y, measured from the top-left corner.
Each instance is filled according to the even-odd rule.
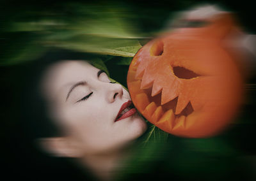
[[[188,10],[202,3],[217,4],[236,13],[237,21],[244,31],[255,34],[255,6],[251,1],[1,1],[0,3],[0,59],[15,54],[24,42],[37,36],[33,32],[10,32],[6,27],[15,19],[22,21],[24,11],[28,18],[35,19],[33,11],[56,11],[60,18],[76,17],[76,13],[63,8],[64,3],[97,4],[99,6],[116,5],[129,9],[129,22],[134,23],[141,33],[154,34],[163,28],[164,22],[172,12]],[[20,16],[22,15],[22,16]],[[112,61],[106,63],[110,76],[125,85],[128,66]],[[21,76],[26,71],[27,62],[12,65],[1,64],[1,170],[6,180],[83,180],[79,168],[58,158],[42,154],[26,134],[22,112],[20,112],[19,91],[24,86]],[[256,79],[246,80],[246,101],[237,116],[236,124],[220,135],[207,139],[186,139],[170,135],[168,141],[172,148],[166,155],[169,163],[159,161],[152,177],[168,176],[168,180],[255,180],[255,103]],[[207,145],[211,141],[211,145]],[[228,145],[228,148],[224,148]],[[161,154],[161,153],[158,153]],[[51,164],[49,164],[51,163]],[[163,171],[163,173],[161,173]],[[146,174],[145,174],[146,173]],[[147,171],[136,178],[147,178]],[[166,174],[170,173],[170,175]],[[4,176],[2,178],[4,178]],[[129,178],[129,177],[127,177]]]

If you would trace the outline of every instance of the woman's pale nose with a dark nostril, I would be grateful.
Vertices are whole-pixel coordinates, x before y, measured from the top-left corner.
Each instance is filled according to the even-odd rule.
[[[122,98],[124,92],[123,87],[119,83],[109,83],[107,98],[109,103],[113,103],[116,99]]]

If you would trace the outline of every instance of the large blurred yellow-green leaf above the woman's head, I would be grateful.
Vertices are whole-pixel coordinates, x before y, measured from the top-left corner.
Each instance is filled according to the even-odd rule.
[[[11,54],[3,47],[6,56],[2,55],[2,64],[35,59],[43,53],[41,50],[54,47],[122,57],[133,57],[141,48],[137,39],[143,37],[129,21],[129,13],[124,13],[129,11],[127,7],[63,3],[59,8],[26,9],[10,17],[2,31],[20,37],[9,41]],[[38,36],[28,38],[28,34]]]

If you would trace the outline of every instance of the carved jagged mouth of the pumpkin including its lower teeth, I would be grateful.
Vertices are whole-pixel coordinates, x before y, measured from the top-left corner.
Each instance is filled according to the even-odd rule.
[[[161,105],[161,92],[156,96],[150,96],[152,87],[140,89],[141,80],[131,83],[131,86],[138,88],[131,91],[133,95],[135,94],[132,101],[134,101],[134,105],[146,119],[156,126],[163,127],[163,129],[164,127],[169,127],[169,129],[173,130],[186,129],[186,119],[194,112],[190,101],[179,114],[175,114],[179,96]]]

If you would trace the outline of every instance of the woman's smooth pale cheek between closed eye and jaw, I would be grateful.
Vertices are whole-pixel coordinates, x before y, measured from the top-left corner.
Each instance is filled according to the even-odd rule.
[[[65,133],[72,136],[79,143],[83,152],[101,152],[111,146],[111,134],[114,130],[109,124],[109,113],[102,112],[105,106],[82,105],[67,108],[61,121],[64,123]]]

